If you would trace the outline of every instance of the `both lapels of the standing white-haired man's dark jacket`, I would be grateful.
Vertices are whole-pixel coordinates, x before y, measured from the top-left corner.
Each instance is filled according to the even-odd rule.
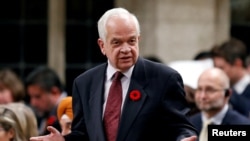
[[[103,112],[103,93],[105,81],[106,65],[100,68],[100,73],[97,73],[93,79],[93,87],[91,87],[89,105],[91,117],[94,118],[94,127],[96,132],[96,140],[105,139],[105,132],[103,128],[102,112]],[[124,140],[132,126],[135,118],[137,117],[140,109],[142,108],[147,94],[144,91],[144,86],[148,83],[144,63],[142,59],[138,59],[130,81],[128,93],[126,95],[124,108],[121,115],[120,127],[118,131],[117,140]],[[132,90],[138,90],[141,98],[138,101],[132,101],[129,94]],[[129,116],[128,116],[129,115]]]

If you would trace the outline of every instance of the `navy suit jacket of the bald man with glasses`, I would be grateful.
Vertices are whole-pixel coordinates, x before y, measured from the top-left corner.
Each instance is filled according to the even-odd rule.
[[[191,116],[190,121],[200,133],[202,128],[201,113]],[[229,108],[221,125],[250,125],[250,119]]]

